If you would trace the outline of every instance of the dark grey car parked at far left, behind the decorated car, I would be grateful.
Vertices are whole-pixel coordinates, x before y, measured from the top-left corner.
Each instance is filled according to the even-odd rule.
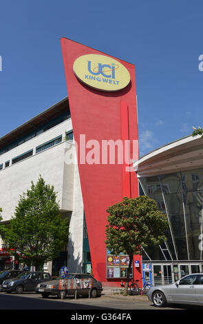
[[[51,281],[52,276],[48,272],[23,272],[14,279],[3,281],[2,292],[34,292],[36,285],[45,281]]]

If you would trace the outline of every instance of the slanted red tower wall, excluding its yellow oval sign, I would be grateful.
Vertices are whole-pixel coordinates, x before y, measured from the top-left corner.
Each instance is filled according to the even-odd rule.
[[[61,39],[61,46],[74,139],[78,144],[78,170],[93,273],[96,279],[106,281],[106,210],[109,205],[122,201],[123,196],[138,196],[138,181],[136,173],[126,172],[125,165],[122,164],[80,163],[80,135],[85,134],[86,143],[92,139],[98,141],[100,161],[102,140],[138,141],[135,66],[116,59],[129,71],[131,83],[118,92],[94,90],[76,78],[73,72],[74,61],[85,54],[110,56],[65,38]],[[86,149],[86,154],[89,150],[91,148]]]

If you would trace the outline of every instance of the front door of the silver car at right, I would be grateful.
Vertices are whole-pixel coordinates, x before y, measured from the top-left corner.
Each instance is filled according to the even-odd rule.
[[[178,285],[171,288],[171,297],[175,303],[195,303],[195,286],[197,285],[197,274],[191,274],[180,279]]]

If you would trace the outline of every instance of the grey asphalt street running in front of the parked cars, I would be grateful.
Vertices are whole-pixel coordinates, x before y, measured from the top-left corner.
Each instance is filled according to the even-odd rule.
[[[188,307],[180,305],[157,308],[148,300],[147,296],[138,298],[118,298],[117,296],[101,296],[100,298],[74,299],[67,296],[58,299],[57,296],[42,298],[35,292],[22,294],[6,294],[0,292],[0,310],[183,310]]]

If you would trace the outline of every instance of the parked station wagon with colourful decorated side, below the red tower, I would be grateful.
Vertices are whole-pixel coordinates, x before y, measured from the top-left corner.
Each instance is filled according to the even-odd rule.
[[[102,283],[94,279],[90,274],[68,274],[65,279],[57,278],[54,281],[39,283],[36,286],[36,292],[41,293],[43,298],[50,295],[57,295],[58,298],[63,298],[66,295],[74,295],[77,291],[78,295],[89,296],[95,298],[101,295],[103,291]]]

